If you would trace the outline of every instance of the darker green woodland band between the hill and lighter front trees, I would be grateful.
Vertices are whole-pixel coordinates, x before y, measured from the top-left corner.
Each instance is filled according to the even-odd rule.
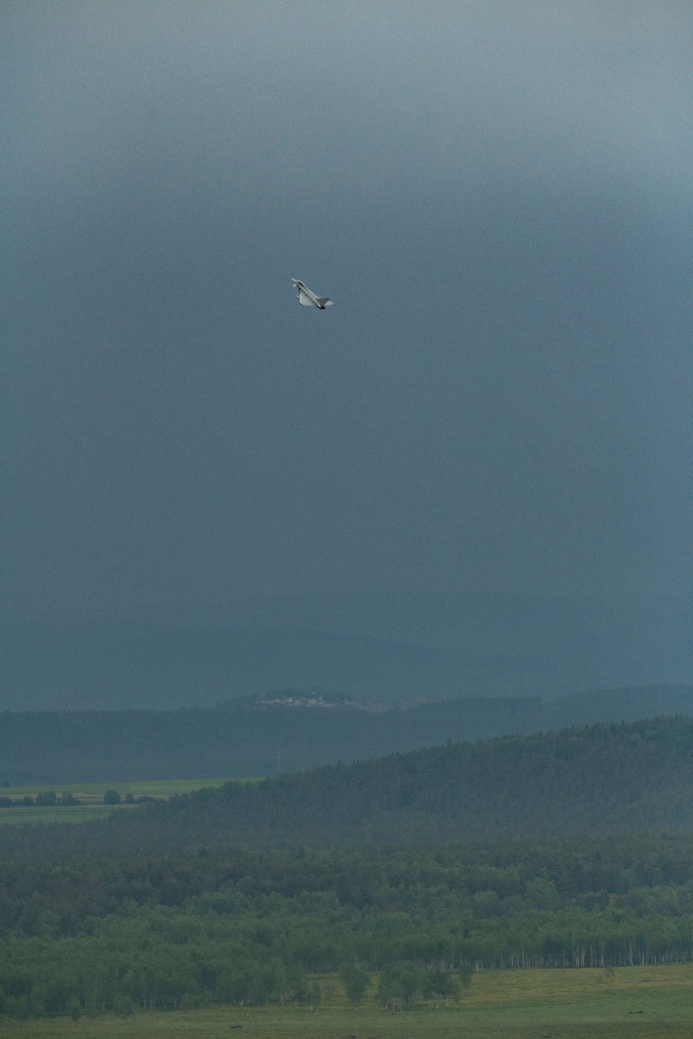
[[[693,833],[593,833],[432,848],[324,851],[90,848],[0,856],[0,938],[76,937],[128,907],[263,915],[315,896],[366,915],[476,920],[574,908],[637,916],[693,913]],[[209,900],[212,900],[211,902]],[[207,901],[205,901],[207,900]]]

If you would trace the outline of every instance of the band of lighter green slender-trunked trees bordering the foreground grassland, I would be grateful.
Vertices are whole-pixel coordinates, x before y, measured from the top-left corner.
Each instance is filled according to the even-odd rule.
[[[300,913],[281,900],[258,915],[125,906],[73,938],[8,938],[0,948],[0,1012],[101,1012],[131,1005],[180,1009],[287,1001],[316,1009],[343,961],[354,1003],[402,1010],[416,998],[457,998],[482,967],[583,967],[691,959],[693,915],[678,920],[584,910],[512,921],[364,918],[325,900]],[[356,966],[356,958],[358,966]],[[345,970],[344,964],[347,966]],[[354,984],[349,968],[357,976]],[[363,979],[358,982],[358,976]]]

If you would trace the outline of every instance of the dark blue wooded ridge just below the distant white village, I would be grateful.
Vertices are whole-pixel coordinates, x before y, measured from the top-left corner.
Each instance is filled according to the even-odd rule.
[[[0,713],[0,781],[266,776],[376,758],[448,739],[486,740],[665,714],[690,717],[693,687],[609,690],[550,701],[479,697],[390,707],[378,713],[344,702],[288,708],[246,699],[185,711],[5,711]]]

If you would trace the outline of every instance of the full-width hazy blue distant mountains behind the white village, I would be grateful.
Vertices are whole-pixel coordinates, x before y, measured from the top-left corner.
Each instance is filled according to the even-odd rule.
[[[0,709],[176,710],[320,687],[347,699],[542,696],[693,681],[693,600],[313,596],[218,623],[0,615]]]

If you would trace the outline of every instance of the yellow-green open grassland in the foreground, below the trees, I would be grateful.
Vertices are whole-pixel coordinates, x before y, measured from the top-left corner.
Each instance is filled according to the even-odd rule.
[[[348,1006],[342,987],[321,981],[317,1013],[287,1005],[188,1011],[140,1011],[129,1017],[104,1014],[76,1022],[68,1017],[2,1022],[16,1039],[691,1039],[693,965],[601,969],[489,970],[477,974],[462,1000],[430,1010],[393,1013],[372,1001]],[[330,991],[331,990],[331,991]],[[373,991],[373,990],[371,990]]]

